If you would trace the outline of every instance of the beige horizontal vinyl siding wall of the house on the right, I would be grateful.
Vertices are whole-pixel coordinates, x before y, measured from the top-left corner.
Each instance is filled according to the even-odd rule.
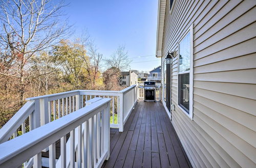
[[[166,1],[162,66],[167,52],[175,50],[172,123],[194,167],[255,167],[255,4],[176,0],[170,14]],[[177,105],[178,41],[192,23],[193,120]]]

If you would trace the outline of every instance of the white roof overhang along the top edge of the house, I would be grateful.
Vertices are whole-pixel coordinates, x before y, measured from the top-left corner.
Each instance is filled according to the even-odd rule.
[[[162,57],[165,7],[166,7],[166,0],[158,0],[157,46],[156,46],[156,57],[157,58]]]

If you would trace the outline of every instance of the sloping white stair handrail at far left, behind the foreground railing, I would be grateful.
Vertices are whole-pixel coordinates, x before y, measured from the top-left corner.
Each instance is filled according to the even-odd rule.
[[[34,101],[25,103],[17,113],[0,129],[0,143],[8,140],[11,134],[28,118],[33,112]]]

